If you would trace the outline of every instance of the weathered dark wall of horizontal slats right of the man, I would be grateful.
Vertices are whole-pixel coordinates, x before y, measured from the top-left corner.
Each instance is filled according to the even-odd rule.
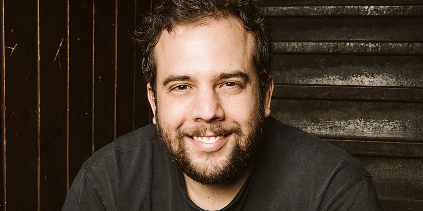
[[[263,0],[272,115],[372,174],[383,210],[423,209],[423,1]]]

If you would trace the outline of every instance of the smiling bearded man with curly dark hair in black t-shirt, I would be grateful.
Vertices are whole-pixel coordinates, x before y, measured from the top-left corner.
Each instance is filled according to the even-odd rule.
[[[85,162],[63,210],[379,210],[351,156],[273,119],[270,23],[249,0],[166,0],[136,32],[154,124]]]

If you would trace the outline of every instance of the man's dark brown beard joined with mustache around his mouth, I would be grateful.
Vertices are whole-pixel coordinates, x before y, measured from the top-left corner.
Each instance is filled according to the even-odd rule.
[[[203,184],[221,184],[232,181],[242,175],[247,170],[258,153],[259,141],[262,137],[262,127],[264,125],[264,112],[258,106],[255,114],[248,120],[249,128],[242,130],[239,124],[223,125],[221,123],[210,123],[198,125],[197,127],[178,129],[176,137],[167,130],[163,130],[159,124],[159,116],[156,111],[157,134],[168,150],[170,158],[176,163],[191,179]],[[209,171],[198,169],[192,164],[192,159],[187,153],[184,145],[186,135],[201,135],[206,131],[214,134],[229,134],[235,139],[235,145],[229,153],[228,159],[221,165],[213,166]],[[229,141],[229,140],[228,140]],[[207,156],[213,156],[214,152],[203,152]]]

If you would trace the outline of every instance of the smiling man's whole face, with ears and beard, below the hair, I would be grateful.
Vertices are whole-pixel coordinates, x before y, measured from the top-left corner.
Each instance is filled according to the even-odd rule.
[[[259,99],[253,49],[233,18],[177,26],[155,46],[156,95],[148,86],[148,97],[159,137],[196,181],[234,179],[255,154],[269,102]]]

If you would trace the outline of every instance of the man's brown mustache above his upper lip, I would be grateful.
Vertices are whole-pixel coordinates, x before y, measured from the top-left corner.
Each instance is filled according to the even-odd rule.
[[[242,129],[239,124],[221,124],[221,123],[212,123],[212,124],[199,124],[192,127],[179,128],[178,136],[182,138],[186,135],[188,136],[204,136],[207,132],[214,133],[216,135],[227,135],[229,133],[241,134]]]

